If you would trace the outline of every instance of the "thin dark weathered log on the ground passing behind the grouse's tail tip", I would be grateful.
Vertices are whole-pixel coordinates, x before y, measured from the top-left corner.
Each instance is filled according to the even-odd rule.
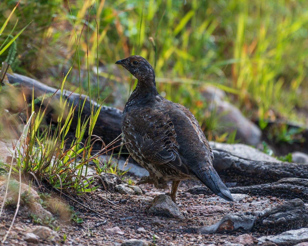
[[[232,194],[247,194],[257,197],[273,196],[282,199],[300,198],[305,202],[308,202],[308,179],[285,178],[275,183],[229,188],[229,190]],[[213,192],[205,186],[194,186],[187,192],[194,195],[213,194]]]

